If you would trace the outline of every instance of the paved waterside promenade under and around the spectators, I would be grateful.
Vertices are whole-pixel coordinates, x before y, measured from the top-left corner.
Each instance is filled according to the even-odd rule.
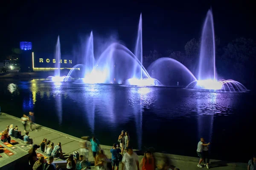
[[[21,117],[22,115],[20,115]],[[8,114],[2,113],[0,115],[0,131],[4,130],[6,128],[6,125],[11,125],[13,124],[14,126],[17,125],[19,130],[22,131],[22,135],[24,135],[24,128],[20,122],[20,118],[16,118],[14,116],[10,116]],[[39,126],[38,131],[33,130],[32,132],[29,131],[29,136],[33,139],[34,144],[40,144],[40,142],[44,139],[47,138],[47,140],[50,140],[51,142],[54,142],[54,144],[57,144],[58,142],[61,142],[62,150],[64,153],[64,156],[67,158],[71,153],[73,153],[76,150],[79,150],[80,145],[79,142],[82,139],[76,138],[74,136],[67,135],[65,133],[61,133],[57,130],[52,130],[47,127]],[[27,129],[29,129],[29,126],[27,125]],[[87,134],[84,134],[84,136],[87,136]],[[99,138],[100,140],[100,138]],[[13,156],[6,156],[5,153],[0,153],[0,170],[1,167],[4,165],[8,164],[9,162],[14,161],[15,159],[18,159],[19,157],[22,157],[27,154],[27,151],[31,146],[27,145],[25,146],[26,148],[21,148],[22,142],[20,144],[17,144],[16,147],[18,147],[15,150],[10,149],[14,155]],[[90,142],[87,142],[90,144]],[[3,145],[0,143],[0,145]],[[18,146],[19,145],[19,146]],[[15,144],[14,144],[15,146]],[[108,158],[111,158],[111,153],[109,150],[111,149],[111,146],[106,146],[106,145],[101,145],[102,149],[105,150],[105,153]],[[21,148],[21,149],[20,149]],[[41,152],[40,149],[38,149],[38,153],[42,154],[43,156],[46,156],[44,153]],[[161,157],[163,157],[163,153],[155,153],[156,157],[156,162],[160,163],[161,162]],[[175,167],[180,168],[180,170],[199,170],[201,168],[197,167],[197,161],[199,160],[198,158],[194,157],[188,157],[188,156],[178,156],[178,155],[170,155],[166,154],[170,158],[170,162],[172,165]],[[47,156],[46,156],[47,157]],[[143,156],[139,156],[139,159],[141,160]],[[8,158],[8,159],[7,159]],[[11,159],[10,159],[11,158]],[[140,161],[139,160],[139,161]],[[61,159],[56,159],[55,162],[58,164],[58,161],[61,162]],[[89,154],[89,161],[93,162],[93,155],[92,152]],[[26,162],[24,162],[26,164]],[[211,160],[211,168],[214,170],[246,170],[246,164],[244,163],[232,163],[232,162],[224,162],[224,161],[218,161],[218,160]],[[92,167],[94,169],[94,167]],[[204,169],[207,169],[204,167]]]

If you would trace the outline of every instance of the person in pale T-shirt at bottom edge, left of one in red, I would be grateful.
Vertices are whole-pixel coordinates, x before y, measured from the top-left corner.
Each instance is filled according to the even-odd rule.
[[[140,170],[138,155],[133,152],[132,147],[127,147],[127,153],[122,158],[122,170]]]

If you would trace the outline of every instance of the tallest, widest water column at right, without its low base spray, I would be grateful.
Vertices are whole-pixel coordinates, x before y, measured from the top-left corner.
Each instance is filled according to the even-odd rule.
[[[209,9],[201,35],[198,80],[216,79],[215,35],[212,11]]]

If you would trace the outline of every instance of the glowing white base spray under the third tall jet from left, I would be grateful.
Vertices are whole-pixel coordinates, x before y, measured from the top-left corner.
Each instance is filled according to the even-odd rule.
[[[137,79],[132,78],[125,81],[126,85],[137,85],[137,86],[158,86],[160,82],[157,79],[145,78],[145,79]]]

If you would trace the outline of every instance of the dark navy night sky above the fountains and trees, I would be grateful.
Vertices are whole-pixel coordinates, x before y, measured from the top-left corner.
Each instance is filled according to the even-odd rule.
[[[140,13],[143,16],[143,53],[183,50],[187,41],[200,38],[204,18],[211,7],[215,35],[222,45],[236,37],[255,40],[253,1],[67,2],[70,3],[55,0],[1,2],[0,57],[12,54],[12,48],[19,48],[20,41],[31,41],[33,51],[53,53],[58,35],[61,52],[72,54],[79,38],[89,35],[91,30],[95,37],[115,35],[134,51]]]

